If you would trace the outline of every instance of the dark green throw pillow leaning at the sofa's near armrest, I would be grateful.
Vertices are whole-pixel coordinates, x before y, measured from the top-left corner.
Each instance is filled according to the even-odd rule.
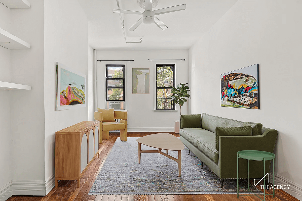
[[[241,127],[216,127],[215,130],[215,144],[216,149],[219,151],[219,136],[247,136],[252,135],[252,127],[251,126],[241,126]]]

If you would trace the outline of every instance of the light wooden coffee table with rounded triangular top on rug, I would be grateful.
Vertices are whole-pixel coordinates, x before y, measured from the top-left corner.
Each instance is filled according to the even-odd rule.
[[[146,135],[136,140],[138,142],[138,163],[140,163],[141,153],[160,153],[173,161],[178,162],[178,177],[182,173],[182,149],[185,149],[184,144],[177,137],[169,133],[157,133],[152,135]],[[154,147],[158,150],[141,150],[140,146],[144,144],[146,146]],[[162,152],[162,149],[167,150],[167,153]],[[178,159],[168,155],[168,150],[178,151]]]

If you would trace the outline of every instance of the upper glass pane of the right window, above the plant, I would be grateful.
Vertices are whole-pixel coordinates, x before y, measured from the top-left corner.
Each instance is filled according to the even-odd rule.
[[[172,66],[157,66],[157,87],[173,86],[173,67]]]

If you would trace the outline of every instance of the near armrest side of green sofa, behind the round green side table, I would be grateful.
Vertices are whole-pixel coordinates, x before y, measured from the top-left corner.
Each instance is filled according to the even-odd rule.
[[[277,130],[266,129],[262,135],[220,136],[218,165],[221,170],[221,178],[237,178],[238,151],[259,150],[273,152],[277,135]],[[269,171],[269,168],[270,162],[266,162],[266,172]],[[250,178],[262,178],[263,162],[250,161],[249,170]],[[239,178],[247,178],[247,160],[245,159],[239,159]]]

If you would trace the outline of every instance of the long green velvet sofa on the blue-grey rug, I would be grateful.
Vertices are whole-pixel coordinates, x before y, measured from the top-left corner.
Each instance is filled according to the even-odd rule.
[[[199,116],[200,117],[200,116]],[[181,116],[180,140],[205,163],[221,180],[237,178],[237,152],[241,150],[260,150],[273,152],[278,131],[262,127],[259,123],[250,123],[226,119],[202,113],[200,126],[191,124],[192,116]],[[196,120],[196,117],[195,117]],[[199,122],[198,122],[199,124]],[[216,127],[251,126],[252,135],[249,136],[219,136],[219,147],[216,149]],[[193,127],[193,128],[192,128]],[[199,127],[199,128],[196,128]],[[202,168],[202,166],[201,166]],[[265,164],[269,172],[270,161]],[[266,172],[266,173],[267,173]],[[263,177],[263,162],[249,162],[249,178]],[[239,159],[239,178],[247,178],[247,160]]]

